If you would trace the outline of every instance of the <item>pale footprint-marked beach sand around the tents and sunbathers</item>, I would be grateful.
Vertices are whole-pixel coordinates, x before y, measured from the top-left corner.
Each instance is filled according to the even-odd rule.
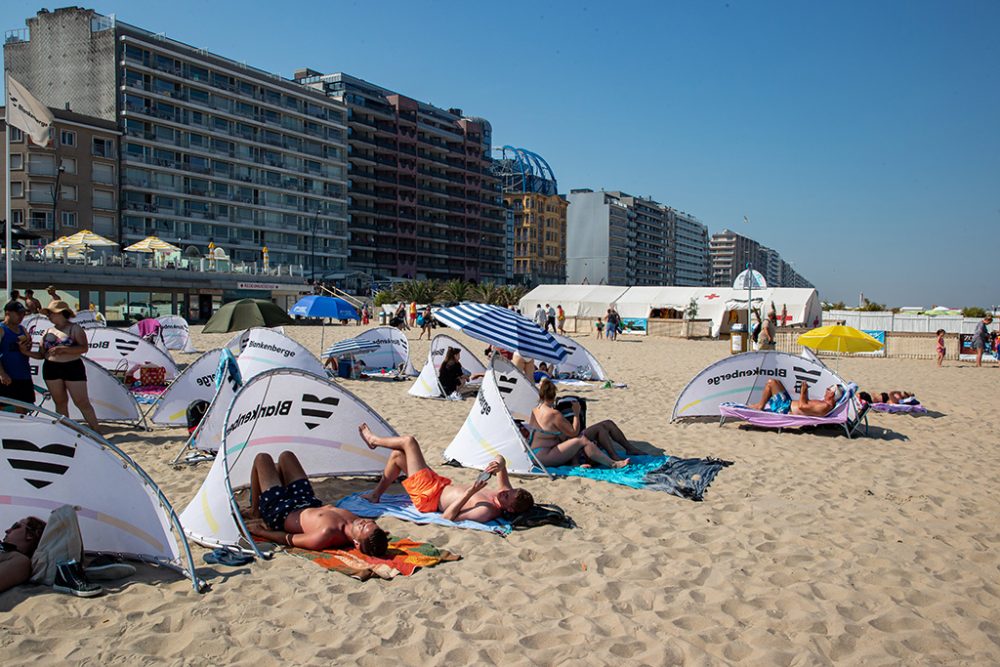
[[[327,327],[326,337],[356,335]],[[290,335],[319,350],[318,327]],[[411,334],[417,367],[428,344]],[[196,335],[199,349],[228,335]],[[873,415],[871,437],[669,423],[673,402],[726,342],[583,339],[627,389],[575,391],[591,421],[679,456],[719,456],[702,503],[582,479],[533,479],[575,530],[487,533],[383,525],[463,556],[365,583],[279,554],[204,565],[212,590],[140,567],[81,600],[22,586],[0,595],[5,665],[22,664],[949,664],[1000,662],[996,368],[846,359],[862,387],[916,392],[930,416]],[[473,350],[483,345],[469,341]],[[194,355],[177,355],[188,363]],[[350,389],[437,461],[470,408]],[[180,511],[208,464],[168,463],[182,430],[113,429]],[[460,482],[474,471],[447,469]],[[358,480],[319,485],[329,500]]]

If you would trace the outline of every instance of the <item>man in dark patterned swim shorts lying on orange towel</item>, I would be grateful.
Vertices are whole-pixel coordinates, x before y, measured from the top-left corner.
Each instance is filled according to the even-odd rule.
[[[258,454],[250,473],[250,493],[253,518],[247,528],[258,537],[313,551],[353,542],[363,554],[385,556],[389,542],[385,531],[371,519],[323,505],[291,452],[282,452],[277,466],[270,454]]]

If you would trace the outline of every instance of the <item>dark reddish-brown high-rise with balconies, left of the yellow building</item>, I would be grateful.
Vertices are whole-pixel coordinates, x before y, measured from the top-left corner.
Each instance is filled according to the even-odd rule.
[[[295,78],[349,111],[350,269],[505,281],[507,221],[488,121],[343,73]]]

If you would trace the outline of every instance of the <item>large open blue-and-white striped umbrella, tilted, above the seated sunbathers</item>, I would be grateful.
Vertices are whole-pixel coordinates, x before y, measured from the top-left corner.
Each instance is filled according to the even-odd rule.
[[[522,357],[558,363],[567,352],[552,334],[512,310],[483,303],[463,303],[434,313],[439,322],[484,343]]]

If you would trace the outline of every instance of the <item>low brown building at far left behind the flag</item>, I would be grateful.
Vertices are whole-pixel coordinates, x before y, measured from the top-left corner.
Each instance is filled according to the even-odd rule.
[[[4,119],[5,111],[0,107]],[[48,146],[42,148],[10,128],[10,157],[0,154],[0,171],[5,172],[10,160],[11,220],[43,243],[82,229],[115,239],[121,133],[112,121],[51,111],[55,122]],[[0,137],[7,129],[3,123]],[[0,184],[0,199],[7,187]]]

